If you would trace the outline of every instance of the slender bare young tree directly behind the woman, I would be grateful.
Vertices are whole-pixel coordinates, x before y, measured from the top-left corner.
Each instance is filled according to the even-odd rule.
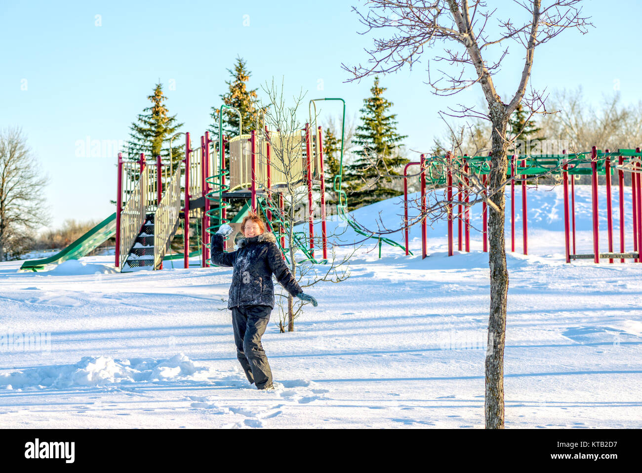
[[[297,277],[297,257],[302,242],[307,244],[306,240],[301,240],[295,235],[296,224],[307,222],[310,213],[317,213],[318,210],[313,202],[313,208],[309,208],[308,204],[308,183],[302,177],[307,175],[307,168],[301,166],[301,159],[293,159],[293,157],[302,156],[302,139],[301,130],[304,125],[297,119],[297,111],[304,100],[305,94],[301,91],[299,96],[293,97],[291,105],[286,103],[283,94],[283,84],[281,87],[275,85],[274,80],[272,84],[266,82],[262,86],[269,103],[261,104],[261,107],[266,110],[265,115],[261,117],[262,121],[255,123],[254,129],[259,130],[259,137],[263,138],[270,145],[270,167],[272,175],[277,176],[277,179],[283,181],[281,185],[282,196],[284,197],[283,209],[279,202],[279,195],[273,192],[266,192],[266,200],[268,208],[272,212],[273,220],[281,222],[286,231],[286,244],[289,249],[290,272]],[[316,117],[315,117],[316,118]],[[267,130],[270,130],[269,132]],[[257,162],[266,163],[267,156],[265,156],[263,147],[257,147]],[[312,160],[310,159],[310,162]],[[276,186],[272,186],[275,188]],[[259,186],[263,188],[263,186]],[[263,188],[263,190],[266,190]],[[267,191],[267,190],[266,190]],[[335,237],[336,233],[329,233],[327,238]],[[315,259],[320,260],[319,253],[321,251],[321,241],[318,235],[314,238],[314,247],[317,249],[315,252]],[[338,283],[346,280],[350,276],[349,260],[356,251],[344,254],[342,258],[336,257],[336,252],[332,248],[332,256],[328,258],[326,265],[315,268],[306,262],[300,265],[299,276],[297,281],[299,285],[310,287],[320,281],[330,281]],[[308,258],[304,258],[307,261]],[[303,283],[303,280],[306,280]],[[286,297],[281,294],[281,297]],[[303,303],[295,307],[295,301],[290,294],[287,295],[287,309],[281,302],[281,298],[277,299],[279,305],[279,328],[281,332],[285,332],[285,326],[288,326],[288,332],[294,331],[294,321],[300,316],[303,310]]]

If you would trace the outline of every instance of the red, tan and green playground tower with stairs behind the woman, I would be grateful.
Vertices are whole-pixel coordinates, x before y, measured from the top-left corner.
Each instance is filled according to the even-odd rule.
[[[163,163],[160,156],[150,164],[143,154],[137,161],[125,160],[119,155],[116,267],[120,267],[121,272],[162,269],[163,261],[175,258],[182,258],[184,267],[189,267],[189,258],[195,254],[200,254],[199,265],[205,267],[210,264],[210,236],[222,224],[229,224],[235,230],[233,238],[250,210],[263,215],[268,230],[277,237],[283,258],[289,263],[290,248],[286,246],[289,222],[279,216],[284,215],[288,188],[300,186],[306,186],[308,191],[308,231],[292,232],[295,250],[304,254],[304,259],[299,263],[327,263],[323,130],[315,126],[315,102],[325,100],[343,102],[345,123],[345,102],[342,99],[315,99],[310,101],[310,121],[304,129],[288,135],[272,132],[267,127],[265,130],[240,134],[242,119],[239,120],[238,136],[227,138],[220,133],[216,140],[211,138],[209,132],[205,132],[200,137],[200,147],[193,147],[191,136],[189,132],[186,133],[185,158],[176,169],[171,159]],[[315,109],[314,117],[312,107]],[[236,109],[223,105],[220,109],[221,120],[224,109],[238,113]],[[219,125],[221,130],[222,123]],[[343,134],[342,127],[340,172],[333,181],[340,199],[337,206],[339,217],[361,235],[375,238],[379,244],[379,257],[382,243],[403,248],[393,240],[368,233],[347,214],[347,199],[341,190]],[[275,160],[275,156],[279,159]],[[315,256],[313,186],[317,184],[320,191],[322,258]],[[227,218],[230,199],[245,200],[241,211],[231,220]],[[200,223],[197,235],[199,249],[192,253],[189,253],[189,219],[197,219]],[[171,240],[181,222],[184,251],[168,256]],[[227,247],[227,242],[224,244]]]

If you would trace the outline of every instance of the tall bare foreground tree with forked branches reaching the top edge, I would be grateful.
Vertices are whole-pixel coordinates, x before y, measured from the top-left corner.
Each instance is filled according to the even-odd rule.
[[[433,93],[452,95],[479,84],[482,87],[487,110],[458,105],[446,114],[460,118],[481,118],[492,125],[489,175],[489,266],[490,314],[488,350],[485,360],[485,425],[487,428],[504,427],[503,356],[505,345],[508,270],[506,264],[504,221],[506,181],[507,125],[510,114],[519,103],[524,103],[532,113],[546,111],[542,92],[533,91],[526,96],[535,49],[554,39],[562,31],[574,28],[586,33],[591,25],[582,16],[581,0],[514,0],[516,11],[508,12],[505,19],[498,16],[498,8],[482,0],[369,0],[365,15],[357,8],[367,31],[381,33],[392,31],[389,37],[373,39],[374,48],[367,49],[367,65],[345,66],[352,73],[352,80],[369,75],[392,73],[401,67],[415,65],[426,51],[436,51],[433,60],[444,67],[437,69],[428,64],[428,84]],[[500,10],[501,11],[501,10]],[[518,21],[519,12],[525,14]],[[510,15],[510,16],[509,16]],[[497,23],[492,32],[486,31],[489,21]],[[489,30],[491,27],[489,26]],[[519,85],[501,99],[493,76],[501,69],[510,42],[516,42],[525,53]],[[498,51],[499,49],[499,51]],[[493,60],[485,58],[492,57]],[[447,163],[446,163],[447,165]],[[423,215],[422,217],[426,217]]]

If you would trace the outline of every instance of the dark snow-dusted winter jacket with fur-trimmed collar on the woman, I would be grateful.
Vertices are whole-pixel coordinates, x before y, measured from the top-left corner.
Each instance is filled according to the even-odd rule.
[[[283,260],[271,231],[251,238],[241,238],[236,251],[223,251],[222,235],[214,235],[212,263],[234,267],[227,308],[245,305],[269,305],[274,308],[272,274],[292,296],[302,292],[299,283]]]

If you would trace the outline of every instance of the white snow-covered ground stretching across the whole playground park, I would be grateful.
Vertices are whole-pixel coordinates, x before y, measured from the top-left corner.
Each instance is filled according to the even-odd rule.
[[[519,217],[519,189],[516,200]],[[381,212],[392,227],[400,202],[354,215],[374,226]],[[642,427],[642,265],[564,263],[561,189],[529,189],[528,206],[530,254],[508,254],[506,427]],[[591,253],[590,209],[578,186],[578,253]],[[480,209],[472,215],[479,226]],[[519,219],[517,230],[521,251]],[[425,260],[419,226],[414,256],[384,245],[378,259],[366,242],[349,279],[306,289],[318,307],[306,305],[295,332],[279,334],[275,307],[263,337],[272,392],[250,387],[236,361],[231,269],[175,261],[120,274],[113,256],[92,256],[35,274],[0,263],[0,424],[482,428],[487,254],[473,231],[473,251],[448,258],[445,235],[444,223],[429,229]]]

